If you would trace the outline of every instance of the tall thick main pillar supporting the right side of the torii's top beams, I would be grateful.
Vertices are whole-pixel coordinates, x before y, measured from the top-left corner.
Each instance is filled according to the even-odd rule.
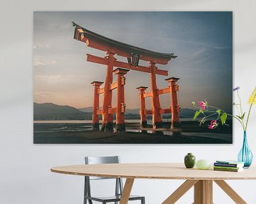
[[[159,101],[159,94],[157,93],[156,87],[156,63],[149,62],[149,68],[151,69],[151,76],[150,76],[150,88],[151,88],[151,107],[152,107],[152,123],[153,129],[162,128],[163,122],[161,120],[161,113],[160,113],[160,101]]]

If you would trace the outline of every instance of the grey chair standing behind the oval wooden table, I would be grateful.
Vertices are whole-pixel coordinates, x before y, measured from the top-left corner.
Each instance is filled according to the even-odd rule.
[[[119,164],[119,156],[113,157],[85,157],[85,164]],[[90,180],[100,180],[100,179],[114,179],[107,177],[96,177],[96,176],[85,176],[85,191],[84,191],[84,204],[92,204],[93,201],[100,202],[102,204],[114,203],[117,204],[122,196],[123,183],[122,179],[116,179],[115,185],[115,195],[108,197],[92,196],[90,192]],[[144,196],[129,196],[129,200],[141,200],[141,204],[145,204]]]

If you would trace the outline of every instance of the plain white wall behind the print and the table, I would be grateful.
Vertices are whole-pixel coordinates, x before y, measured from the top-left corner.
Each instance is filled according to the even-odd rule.
[[[119,154],[122,162],[182,162],[187,152],[198,159],[235,159],[242,143],[242,130],[235,123],[233,145],[33,145],[33,11],[233,11],[234,86],[241,87],[246,103],[256,85],[255,8],[254,0],[1,1],[0,203],[82,203],[82,177],[53,174],[50,167],[82,164],[85,155]],[[248,136],[256,155],[255,109]],[[133,193],[145,195],[148,204],[161,203],[181,182],[137,180]],[[247,203],[256,203],[256,181],[228,183]],[[214,187],[214,203],[233,203]],[[192,196],[189,191],[178,203],[192,203]]]

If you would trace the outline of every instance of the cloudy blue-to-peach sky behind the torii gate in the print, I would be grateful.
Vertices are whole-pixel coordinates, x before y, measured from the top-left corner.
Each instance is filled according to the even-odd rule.
[[[75,108],[92,106],[92,81],[104,81],[106,67],[86,61],[86,54],[105,56],[73,39],[71,21],[108,38],[178,57],[167,65],[178,81],[178,102],[191,108],[191,101],[206,99],[213,106],[232,110],[233,16],[232,12],[34,12],[34,102],[56,103]],[[118,60],[127,62],[124,57]],[[147,62],[140,61],[147,65]],[[149,86],[149,74],[126,75],[125,103],[139,108],[138,86]],[[157,76],[158,88],[168,86]],[[115,80],[115,78],[114,78]],[[115,93],[115,91],[114,91]],[[170,106],[162,95],[161,107]],[[149,107],[149,98],[147,104]],[[113,106],[115,105],[115,94]]]

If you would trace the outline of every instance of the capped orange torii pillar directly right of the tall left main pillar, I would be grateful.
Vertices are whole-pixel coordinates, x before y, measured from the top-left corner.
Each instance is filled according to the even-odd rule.
[[[125,103],[124,103],[124,84],[125,77],[124,74],[129,72],[129,69],[117,68],[114,69],[114,74],[117,74],[117,112],[116,112],[116,131],[123,132],[125,131],[125,121],[124,121],[124,112],[125,112]]]

